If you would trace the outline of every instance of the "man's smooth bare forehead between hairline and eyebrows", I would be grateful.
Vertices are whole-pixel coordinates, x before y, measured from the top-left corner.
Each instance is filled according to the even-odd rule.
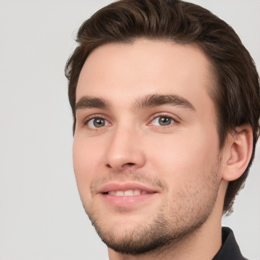
[[[85,61],[76,100],[102,96],[125,104],[147,94],[170,93],[199,103],[209,98],[210,65],[206,55],[191,45],[151,40],[103,45]]]

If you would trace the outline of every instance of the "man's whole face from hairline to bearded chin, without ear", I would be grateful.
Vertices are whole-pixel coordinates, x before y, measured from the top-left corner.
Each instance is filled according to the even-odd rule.
[[[105,243],[138,254],[199,228],[221,181],[210,63],[155,41],[96,48],[76,92],[74,170]]]

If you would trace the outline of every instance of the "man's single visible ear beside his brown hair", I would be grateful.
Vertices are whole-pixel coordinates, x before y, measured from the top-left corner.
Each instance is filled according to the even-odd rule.
[[[237,126],[235,133],[229,134],[224,149],[225,161],[222,179],[233,181],[246,170],[253,149],[253,134],[250,125]]]

